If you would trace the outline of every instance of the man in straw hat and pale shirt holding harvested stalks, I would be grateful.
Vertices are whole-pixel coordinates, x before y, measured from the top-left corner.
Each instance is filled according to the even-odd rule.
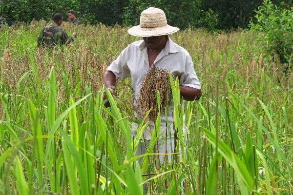
[[[140,25],[134,26],[128,30],[130,35],[142,37],[143,40],[138,40],[128,45],[108,66],[105,72],[105,87],[116,95],[114,86],[116,80],[131,78],[132,90],[134,98],[139,97],[141,84],[146,72],[152,66],[167,70],[175,78],[179,78],[180,96],[188,101],[198,100],[202,96],[201,85],[195,74],[193,63],[188,52],[181,46],[174,43],[169,37],[169,34],[177,32],[179,29],[167,24],[165,13],[158,8],[149,7],[141,13]],[[106,94],[104,99],[106,99]],[[136,105],[136,99],[133,99]],[[106,102],[105,106],[109,106]],[[173,106],[169,107],[173,111]],[[172,112],[168,112],[168,124],[171,124],[167,129],[174,135],[172,122]],[[166,117],[161,115],[161,127],[159,131],[166,131]],[[151,128],[144,130],[143,137],[136,137],[139,124],[133,123],[131,131],[134,138],[141,140],[136,151],[136,156],[146,153],[145,144],[148,147],[151,133],[153,131],[154,122],[150,122]],[[183,128],[185,133],[186,127]],[[165,133],[163,133],[165,135]],[[143,142],[146,142],[145,144]],[[167,148],[165,147],[167,141]],[[163,144],[162,144],[163,143]],[[171,139],[168,137],[158,137],[159,150],[156,153],[173,153],[171,145],[174,149],[174,136]],[[162,147],[160,147],[162,146]],[[165,155],[160,155],[160,162],[163,163]],[[171,156],[168,155],[168,162],[171,162]]]

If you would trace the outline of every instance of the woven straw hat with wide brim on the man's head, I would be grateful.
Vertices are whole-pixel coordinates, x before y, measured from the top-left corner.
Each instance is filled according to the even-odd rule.
[[[168,35],[179,31],[179,28],[167,24],[163,10],[149,7],[141,14],[138,26],[133,26],[127,32],[136,37],[153,37]]]

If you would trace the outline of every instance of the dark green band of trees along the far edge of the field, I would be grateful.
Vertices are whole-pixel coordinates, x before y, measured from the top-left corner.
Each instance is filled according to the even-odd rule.
[[[292,0],[271,0],[290,9]],[[1,0],[0,16],[6,21],[52,20],[55,13],[75,10],[82,23],[138,25],[140,13],[153,6],[164,10],[168,24],[181,29],[206,28],[208,31],[247,28],[263,0]]]

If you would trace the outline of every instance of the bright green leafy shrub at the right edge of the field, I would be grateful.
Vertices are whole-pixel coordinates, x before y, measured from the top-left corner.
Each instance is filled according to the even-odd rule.
[[[292,67],[293,52],[293,8],[291,10],[279,9],[271,1],[265,0],[263,6],[256,10],[256,23],[250,23],[252,31],[257,33],[256,44],[260,52],[274,56],[277,54],[283,65],[283,71],[288,71],[288,65]],[[291,60],[291,61],[290,61]]]

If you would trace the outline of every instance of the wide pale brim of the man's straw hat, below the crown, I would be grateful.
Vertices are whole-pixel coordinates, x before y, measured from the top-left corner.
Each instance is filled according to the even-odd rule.
[[[179,28],[167,24],[166,26],[156,28],[141,28],[140,26],[133,26],[127,32],[136,37],[154,37],[169,35],[177,31],[179,31]]]

